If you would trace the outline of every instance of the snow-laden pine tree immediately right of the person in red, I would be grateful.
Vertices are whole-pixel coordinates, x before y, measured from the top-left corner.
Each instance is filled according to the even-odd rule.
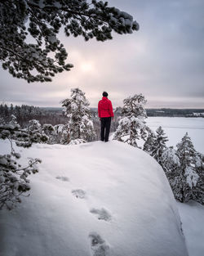
[[[114,140],[122,141],[131,146],[138,146],[137,141],[147,137],[147,126],[144,119],[147,118],[144,105],[146,100],[142,94],[135,94],[133,97],[127,97],[122,107],[122,119],[113,135]]]

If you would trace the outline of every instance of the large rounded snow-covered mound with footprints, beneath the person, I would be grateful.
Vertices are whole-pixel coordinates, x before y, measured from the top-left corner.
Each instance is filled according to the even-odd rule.
[[[42,164],[31,195],[0,212],[1,256],[188,255],[171,188],[144,151],[95,141],[21,155]]]

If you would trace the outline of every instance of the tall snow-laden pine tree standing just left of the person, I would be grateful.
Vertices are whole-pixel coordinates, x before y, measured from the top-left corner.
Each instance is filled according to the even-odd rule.
[[[85,92],[79,88],[71,89],[71,98],[62,101],[62,106],[64,106],[65,115],[69,119],[68,143],[78,144],[92,141],[95,138],[95,131]]]

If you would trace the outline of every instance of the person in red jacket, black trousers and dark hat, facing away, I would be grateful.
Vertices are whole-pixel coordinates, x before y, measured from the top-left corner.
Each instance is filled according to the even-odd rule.
[[[100,140],[109,141],[111,118],[113,119],[113,106],[108,99],[109,94],[103,92],[102,100],[98,104],[98,115],[100,118]]]

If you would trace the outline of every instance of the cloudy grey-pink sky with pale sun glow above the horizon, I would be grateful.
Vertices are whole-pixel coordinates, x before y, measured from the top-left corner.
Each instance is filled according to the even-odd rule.
[[[113,34],[109,42],[60,40],[73,70],[51,83],[26,83],[0,68],[0,101],[15,105],[60,106],[71,88],[81,88],[91,106],[103,91],[113,106],[143,93],[147,107],[204,108],[204,1],[111,0],[140,24],[134,34]]]

